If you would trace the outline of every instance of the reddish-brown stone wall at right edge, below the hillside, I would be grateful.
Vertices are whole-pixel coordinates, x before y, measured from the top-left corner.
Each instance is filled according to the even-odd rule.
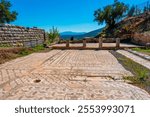
[[[150,43],[150,32],[135,33],[131,41],[135,44],[145,46],[147,43]]]

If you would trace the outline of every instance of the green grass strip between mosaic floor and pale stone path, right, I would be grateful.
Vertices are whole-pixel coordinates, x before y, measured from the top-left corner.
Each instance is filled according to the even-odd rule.
[[[144,88],[150,93],[150,70],[117,52],[112,51],[111,53],[134,75],[133,77],[124,77],[124,79],[130,80],[132,84]]]

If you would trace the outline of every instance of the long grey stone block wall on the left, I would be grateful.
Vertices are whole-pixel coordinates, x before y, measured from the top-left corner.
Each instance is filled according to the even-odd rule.
[[[37,28],[0,25],[0,44],[34,47],[43,44],[45,31]]]

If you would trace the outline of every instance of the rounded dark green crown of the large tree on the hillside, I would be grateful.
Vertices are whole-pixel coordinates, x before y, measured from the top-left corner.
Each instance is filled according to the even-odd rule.
[[[128,9],[128,6],[118,0],[114,1],[113,5],[108,5],[103,9],[98,9],[95,11],[95,21],[99,24],[106,23],[108,27],[113,27],[116,21],[123,16]]]

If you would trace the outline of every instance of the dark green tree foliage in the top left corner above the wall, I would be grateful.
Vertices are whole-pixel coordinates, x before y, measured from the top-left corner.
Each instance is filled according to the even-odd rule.
[[[10,23],[16,20],[18,13],[16,11],[10,11],[11,3],[7,0],[1,0],[0,2],[0,24]]]

